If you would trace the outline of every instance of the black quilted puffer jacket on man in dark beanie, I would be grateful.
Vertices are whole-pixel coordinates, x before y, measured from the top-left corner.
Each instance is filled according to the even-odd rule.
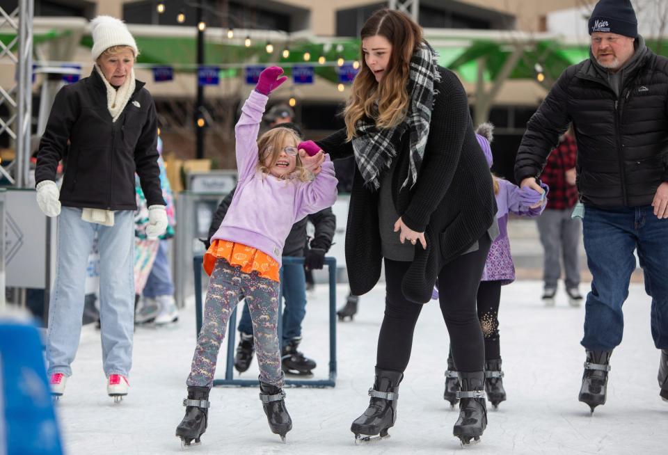
[[[573,122],[578,191],[585,204],[651,204],[668,182],[668,58],[646,54],[624,74],[619,99],[591,60],[568,67],[527,125],[515,177],[539,177]]]

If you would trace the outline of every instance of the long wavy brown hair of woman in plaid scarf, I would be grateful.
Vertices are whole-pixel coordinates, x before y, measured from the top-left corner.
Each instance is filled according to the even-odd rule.
[[[392,45],[390,63],[380,82],[369,69],[360,46],[361,66],[352,94],[344,109],[347,138],[356,135],[356,123],[367,116],[376,120],[376,126],[391,128],[399,125],[408,112],[408,74],[411,57],[422,42],[422,29],[404,13],[382,9],[376,11],[360,31],[360,38],[382,36]],[[374,104],[378,102],[378,112]]]

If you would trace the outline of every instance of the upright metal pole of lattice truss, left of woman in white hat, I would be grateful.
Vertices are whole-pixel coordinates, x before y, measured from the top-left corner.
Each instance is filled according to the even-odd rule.
[[[32,0],[19,1],[17,188],[28,186],[33,102],[33,11],[34,3]]]

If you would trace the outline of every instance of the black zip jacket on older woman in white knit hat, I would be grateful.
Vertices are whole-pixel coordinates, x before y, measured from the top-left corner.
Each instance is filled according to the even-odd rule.
[[[135,210],[135,172],[148,205],[165,205],[157,162],[155,105],[143,86],[136,81],[116,122],[111,121],[106,86],[95,69],[90,77],[61,88],[40,141],[35,184],[55,181],[58,161],[65,159],[62,205]]]

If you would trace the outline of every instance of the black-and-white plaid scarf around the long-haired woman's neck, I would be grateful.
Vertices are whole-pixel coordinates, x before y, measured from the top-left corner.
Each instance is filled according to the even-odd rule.
[[[393,128],[377,128],[375,122],[366,119],[357,122],[357,136],[353,138],[355,160],[364,184],[374,191],[379,189],[379,177],[384,170],[390,168],[392,160],[397,157],[397,145],[401,136],[410,133],[410,165],[408,177],[401,185],[411,188],[417,180],[424,147],[429,136],[431,109],[434,107],[434,81],[440,81],[440,73],[436,67],[436,51],[423,41],[420,49],[411,58],[408,74],[408,95],[410,106],[404,121]]]

